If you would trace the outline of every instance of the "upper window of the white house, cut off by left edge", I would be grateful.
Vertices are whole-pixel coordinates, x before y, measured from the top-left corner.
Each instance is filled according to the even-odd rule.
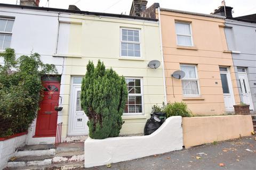
[[[0,50],[9,48],[12,39],[12,27],[14,19],[0,18]]]

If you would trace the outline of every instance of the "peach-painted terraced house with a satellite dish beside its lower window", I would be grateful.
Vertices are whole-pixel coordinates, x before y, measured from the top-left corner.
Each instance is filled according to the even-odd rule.
[[[234,112],[240,98],[225,16],[159,8],[159,4],[137,14],[161,22],[167,101],[183,101],[196,115]],[[174,79],[177,70],[185,77]]]

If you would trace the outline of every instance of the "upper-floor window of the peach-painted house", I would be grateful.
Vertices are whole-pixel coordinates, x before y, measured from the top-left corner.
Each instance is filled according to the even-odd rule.
[[[190,23],[175,22],[177,45],[193,46]]]

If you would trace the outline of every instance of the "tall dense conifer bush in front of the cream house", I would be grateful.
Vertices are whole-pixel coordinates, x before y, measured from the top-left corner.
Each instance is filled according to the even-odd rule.
[[[82,81],[81,106],[89,117],[89,136],[93,139],[117,137],[122,128],[122,115],[128,91],[124,77],[105,69],[98,61],[97,67],[89,61]]]

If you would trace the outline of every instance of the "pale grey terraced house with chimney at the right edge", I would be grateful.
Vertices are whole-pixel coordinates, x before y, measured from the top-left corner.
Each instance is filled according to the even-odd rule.
[[[239,96],[250,110],[256,107],[256,15],[233,18],[232,7],[226,6],[225,35],[228,50],[232,53]],[[225,15],[224,6],[216,14]]]

